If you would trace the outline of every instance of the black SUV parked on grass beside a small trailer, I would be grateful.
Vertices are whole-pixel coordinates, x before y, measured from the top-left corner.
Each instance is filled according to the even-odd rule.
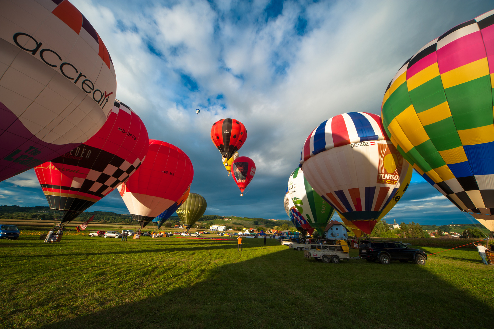
[[[368,262],[379,260],[381,264],[389,264],[393,260],[406,263],[413,261],[418,265],[424,265],[427,254],[420,249],[409,248],[397,241],[368,241],[364,240],[359,245],[359,256]]]

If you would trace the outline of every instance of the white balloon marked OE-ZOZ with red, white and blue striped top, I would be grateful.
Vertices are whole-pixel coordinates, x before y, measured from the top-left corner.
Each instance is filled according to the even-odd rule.
[[[366,234],[403,184],[409,164],[384,133],[381,118],[340,114],[304,143],[300,164],[310,186]]]

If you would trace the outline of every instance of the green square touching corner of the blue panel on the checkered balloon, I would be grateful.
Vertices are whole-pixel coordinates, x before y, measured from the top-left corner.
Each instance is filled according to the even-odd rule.
[[[424,126],[424,129],[438,151],[461,146],[452,117]]]

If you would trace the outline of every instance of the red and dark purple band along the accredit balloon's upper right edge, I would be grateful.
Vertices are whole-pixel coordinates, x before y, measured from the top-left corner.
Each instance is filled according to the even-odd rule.
[[[63,1],[53,1],[59,4],[53,9],[52,14],[57,16],[61,21],[63,21],[67,26],[69,26],[77,34],[81,33],[81,29],[84,29],[99,45],[98,54],[105,64],[110,68],[110,62],[112,59],[105,44],[101,41],[101,38],[96,33],[96,30],[92,27],[89,21],[82,15],[82,13],[68,0]]]

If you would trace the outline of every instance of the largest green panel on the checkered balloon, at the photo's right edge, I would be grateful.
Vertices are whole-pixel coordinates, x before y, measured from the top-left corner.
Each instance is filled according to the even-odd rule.
[[[489,75],[444,91],[457,130],[493,124],[493,96]]]

